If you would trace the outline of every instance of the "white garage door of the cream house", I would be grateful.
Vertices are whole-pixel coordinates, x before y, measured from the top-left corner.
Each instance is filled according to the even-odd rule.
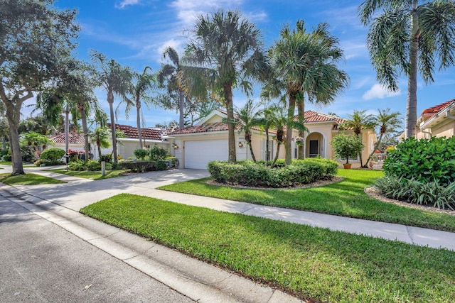
[[[185,142],[185,168],[206,170],[213,160],[228,160],[228,140],[200,140]]]

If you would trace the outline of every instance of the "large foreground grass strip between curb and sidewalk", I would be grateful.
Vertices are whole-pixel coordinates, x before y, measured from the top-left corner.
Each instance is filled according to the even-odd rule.
[[[455,298],[455,252],[449,250],[132,194],[81,212],[301,298],[422,303]]]

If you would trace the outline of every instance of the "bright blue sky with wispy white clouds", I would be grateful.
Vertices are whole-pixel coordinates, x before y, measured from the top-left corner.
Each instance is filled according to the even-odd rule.
[[[407,79],[400,81],[400,92],[391,93],[380,87],[370,64],[365,48],[367,28],[358,21],[357,7],[361,1],[348,0],[60,0],[60,9],[77,9],[77,21],[82,26],[77,57],[89,60],[90,50],[97,50],[122,65],[142,71],[146,65],[154,71],[164,62],[163,50],[172,46],[178,52],[185,48],[183,31],[192,28],[196,16],[213,13],[223,8],[238,9],[257,24],[262,31],[264,44],[268,48],[279,38],[279,30],[284,24],[294,27],[298,19],[311,30],[320,22],[330,24],[330,31],[340,40],[345,52],[345,60],[339,66],[350,77],[350,86],[333,104],[317,107],[306,104],[306,109],[334,112],[346,117],[355,109],[367,110],[375,114],[377,109],[390,108],[405,116]],[[437,72],[435,82],[425,85],[418,82],[417,113],[423,109],[455,98],[455,68]],[[106,93],[97,90],[97,97],[108,112]],[[253,98],[259,100],[259,96]],[[117,106],[117,98],[114,106]],[[245,97],[235,93],[234,104],[242,106]],[[152,107],[144,112],[146,126],[156,123],[178,121],[175,111],[164,111]],[[134,114],[129,120],[119,114],[117,123],[135,124]]]

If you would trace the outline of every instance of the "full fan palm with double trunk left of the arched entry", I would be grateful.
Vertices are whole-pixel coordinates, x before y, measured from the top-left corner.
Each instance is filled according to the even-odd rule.
[[[271,98],[287,97],[289,123],[297,105],[299,123],[304,124],[305,98],[316,104],[329,104],[349,82],[346,72],[336,67],[343,58],[343,51],[338,48],[338,39],[328,33],[327,23],[319,23],[311,33],[305,30],[301,20],[292,31],[284,26],[269,56],[274,76],[264,92]],[[292,136],[290,126],[287,136]],[[304,133],[299,136],[303,138]],[[304,158],[303,147],[299,147],[299,158]],[[291,163],[291,141],[286,144],[286,163]]]

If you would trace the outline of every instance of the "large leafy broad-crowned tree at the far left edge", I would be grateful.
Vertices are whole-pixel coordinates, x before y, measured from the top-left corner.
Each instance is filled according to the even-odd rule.
[[[0,1],[0,100],[6,109],[13,170],[23,175],[18,123],[24,101],[43,83],[60,77],[75,48],[75,11],[60,11],[52,0]]]

